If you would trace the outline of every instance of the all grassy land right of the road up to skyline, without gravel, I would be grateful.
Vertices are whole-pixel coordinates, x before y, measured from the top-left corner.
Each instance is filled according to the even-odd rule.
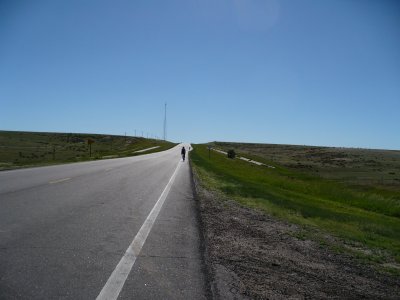
[[[312,238],[400,274],[400,151],[213,143],[275,166],[256,166],[197,145],[206,187],[299,224]]]

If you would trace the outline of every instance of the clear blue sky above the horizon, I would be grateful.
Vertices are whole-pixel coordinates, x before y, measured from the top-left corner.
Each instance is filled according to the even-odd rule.
[[[400,1],[0,0],[0,129],[400,149]]]

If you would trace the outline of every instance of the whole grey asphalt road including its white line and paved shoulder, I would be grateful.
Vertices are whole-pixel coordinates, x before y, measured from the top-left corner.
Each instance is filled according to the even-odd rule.
[[[0,172],[0,299],[208,298],[180,147]]]

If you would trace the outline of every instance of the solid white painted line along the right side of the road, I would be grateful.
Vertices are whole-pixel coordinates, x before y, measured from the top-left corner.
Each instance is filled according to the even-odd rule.
[[[112,272],[110,278],[108,278],[106,284],[104,285],[103,289],[101,290],[100,294],[97,296],[96,300],[111,300],[117,299],[119,293],[122,290],[122,287],[125,284],[126,278],[128,278],[129,273],[132,270],[132,267],[136,261],[136,258],[139,256],[140,251],[144,243],[146,242],[147,236],[150,233],[151,228],[157,216],[163,206],[165,199],[168,196],[169,191],[171,190],[171,186],[174,183],[176,174],[181,166],[181,163],[178,163],[174,173],[172,174],[171,178],[167,186],[164,188],[164,191],[161,193],[160,198],[158,198],[156,204],[154,205],[153,209],[151,210],[150,214],[147,216],[146,220],[144,221],[142,227],[140,228],[139,232],[136,234],[135,238],[133,239],[132,243],[129,245],[128,249],[125,251],[124,256],[119,261],[118,265],[116,266],[115,270]]]

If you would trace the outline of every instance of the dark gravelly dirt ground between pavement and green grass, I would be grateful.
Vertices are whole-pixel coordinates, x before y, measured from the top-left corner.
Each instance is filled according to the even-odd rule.
[[[205,190],[195,178],[215,299],[400,299],[400,279],[296,238],[300,229]]]

